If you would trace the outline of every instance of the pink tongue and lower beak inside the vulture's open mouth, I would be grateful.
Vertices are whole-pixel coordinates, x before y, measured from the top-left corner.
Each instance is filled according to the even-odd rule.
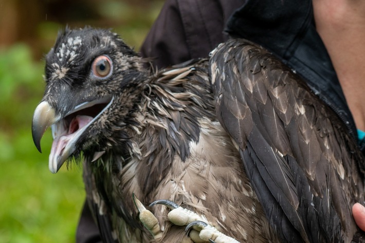
[[[67,143],[75,137],[77,134],[76,132],[79,129],[86,126],[92,120],[93,117],[78,115],[71,120],[68,127],[63,125],[58,126],[57,130],[54,131],[54,138],[52,142],[51,153],[49,154],[49,160],[54,161],[54,159],[56,159],[56,161],[58,161],[58,158],[62,158],[62,154]],[[62,161],[62,163],[63,162],[64,161]]]

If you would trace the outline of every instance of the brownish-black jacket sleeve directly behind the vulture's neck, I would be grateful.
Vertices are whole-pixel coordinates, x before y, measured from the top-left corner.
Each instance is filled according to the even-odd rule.
[[[244,0],[170,0],[163,6],[142,47],[158,68],[206,58],[226,41],[225,23]]]

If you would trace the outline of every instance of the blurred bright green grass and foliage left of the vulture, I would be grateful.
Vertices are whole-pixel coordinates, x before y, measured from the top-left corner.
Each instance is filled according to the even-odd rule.
[[[81,168],[48,170],[51,136],[40,154],[31,118],[43,93],[43,63],[29,47],[0,51],[0,242],[74,242],[85,198]]]

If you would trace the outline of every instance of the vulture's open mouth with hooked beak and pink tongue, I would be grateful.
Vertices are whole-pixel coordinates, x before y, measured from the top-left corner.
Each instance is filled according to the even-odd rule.
[[[113,97],[104,97],[82,103],[64,117],[55,116],[54,109],[46,101],[36,107],[32,124],[33,141],[41,152],[40,140],[51,125],[53,142],[49,154],[49,170],[52,173],[57,173],[67,158],[75,152],[80,136],[104,113],[113,100]]]

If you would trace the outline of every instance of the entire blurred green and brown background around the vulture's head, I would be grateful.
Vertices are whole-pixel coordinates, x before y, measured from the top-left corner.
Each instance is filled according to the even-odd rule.
[[[85,193],[82,168],[48,170],[51,135],[40,154],[31,138],[43,95],[42,57],[59,29],[112,28],[139,49],[163,1],[0,0],[0,243],[75,242]]]

